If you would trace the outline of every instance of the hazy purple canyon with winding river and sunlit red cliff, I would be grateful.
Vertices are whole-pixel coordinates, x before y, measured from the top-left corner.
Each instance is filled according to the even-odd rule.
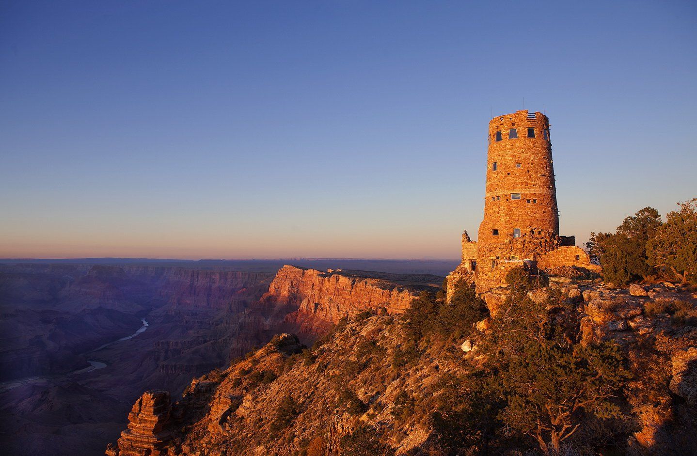
[[[311,344],[344,317],[403,312],[420,291],[438,289],[451,266],[334,264],[399,273],[278,261],[0,265],[0,450],[103,454],[144,390],[176,398],[192,377],[226,367],[277,333]],[[144,320],[147,329],[135,334]]]

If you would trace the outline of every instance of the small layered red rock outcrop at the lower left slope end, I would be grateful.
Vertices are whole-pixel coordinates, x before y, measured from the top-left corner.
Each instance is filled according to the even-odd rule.
[[[116,446],[107,448],[107,456],[164,456],[171,439],[167,421],[171,399],[167,391],[146,391],[128,414],[128,429],[121,432]]]

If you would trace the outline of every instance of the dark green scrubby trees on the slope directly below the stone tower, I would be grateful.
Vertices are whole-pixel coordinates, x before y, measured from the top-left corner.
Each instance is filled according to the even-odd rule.
[[[446,454],[502,450],[526,436],[545,454],[556,454],[583,427],[622,417],[615,398],[629,373],[618,347],[580,344],[562,301],[535,303],[526,296],[538,286],[526,272],[514,269],[507,281],[512,294],[477,344],[477,368],[441,383],[431,420]],[[559,315],[567,326],[556,323]]]

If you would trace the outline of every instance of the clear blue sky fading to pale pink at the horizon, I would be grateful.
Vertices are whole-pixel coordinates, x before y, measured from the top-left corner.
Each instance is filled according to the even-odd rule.
[[[0,257],[457,258],[543,106],[562,234],[697,196],[694,1],[3,1]]]

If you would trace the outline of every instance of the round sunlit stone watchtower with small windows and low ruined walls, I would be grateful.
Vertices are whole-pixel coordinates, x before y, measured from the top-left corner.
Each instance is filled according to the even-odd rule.
[[[549,119],[517,111],[489,121],[484,220],[476,242],[462,238],[462,263],[448,276],[484,293],[505,286],[511,268],[579,266],[597,271],[574,236],[559,235]]]

